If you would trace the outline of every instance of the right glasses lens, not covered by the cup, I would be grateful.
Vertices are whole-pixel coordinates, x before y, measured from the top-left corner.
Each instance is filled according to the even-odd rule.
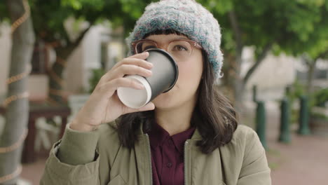
[[[168,46],[168,53],[170,53],[175,60],[184,61],[188,60],[191,55],[192,47],[186,41],[173,41]]]

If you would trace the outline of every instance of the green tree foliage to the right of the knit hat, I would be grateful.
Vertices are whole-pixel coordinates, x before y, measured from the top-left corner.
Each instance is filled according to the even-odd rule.
[[[236,35],[228,16],[233,10],[242,33],[244,46],[263,50],[274,43],[275,52],[290,55],[309,53],[310,56],[327,50],[328,0],[201,0],[222,27],[222,48],[234,53]],[[277,53],[278,54],[278,53]]]

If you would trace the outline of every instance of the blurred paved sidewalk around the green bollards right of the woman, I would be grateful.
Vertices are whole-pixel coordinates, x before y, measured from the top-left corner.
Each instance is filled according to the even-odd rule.
[[[266,102],[267,158],[271,167],[272,184],[328,184],[328,137],[297,135],[298,125],[293,124],[290,144],[278,142],[279,106],[277,103]],[[251,103],[247,107],[247,119],[250,121],[254,119],[255,107]]]

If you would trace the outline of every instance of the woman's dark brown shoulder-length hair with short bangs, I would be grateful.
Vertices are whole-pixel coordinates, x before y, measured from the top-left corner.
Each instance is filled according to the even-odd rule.
[[[153,34],[183,35],[168,29],[156,30],[146,34],[144,38]],[[198,100],[191,118],[191,125],[198,129],[202,137],[197,143],[201,151],[211,153],[214,149],[231,141],[238,122],[231,102],[214,85],[214,71],[212,65],[207,61],[207,54],[204,50],[203,58],[203,78],[198,87]],[[134,147],[140,124],[144,123],[144,132],[149,132],[154,121],[153,111],[142,111],[119,117],[116,126],[121,144],[128,148]]]

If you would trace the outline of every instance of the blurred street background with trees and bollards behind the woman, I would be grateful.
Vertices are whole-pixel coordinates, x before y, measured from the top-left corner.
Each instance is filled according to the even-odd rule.
[[[328,0],[198,0],[221,25],[217,88],[273,184],[328,183]],[[51,146],[126,57],[146,0],[0,1],[0,184],[39,184]]]

